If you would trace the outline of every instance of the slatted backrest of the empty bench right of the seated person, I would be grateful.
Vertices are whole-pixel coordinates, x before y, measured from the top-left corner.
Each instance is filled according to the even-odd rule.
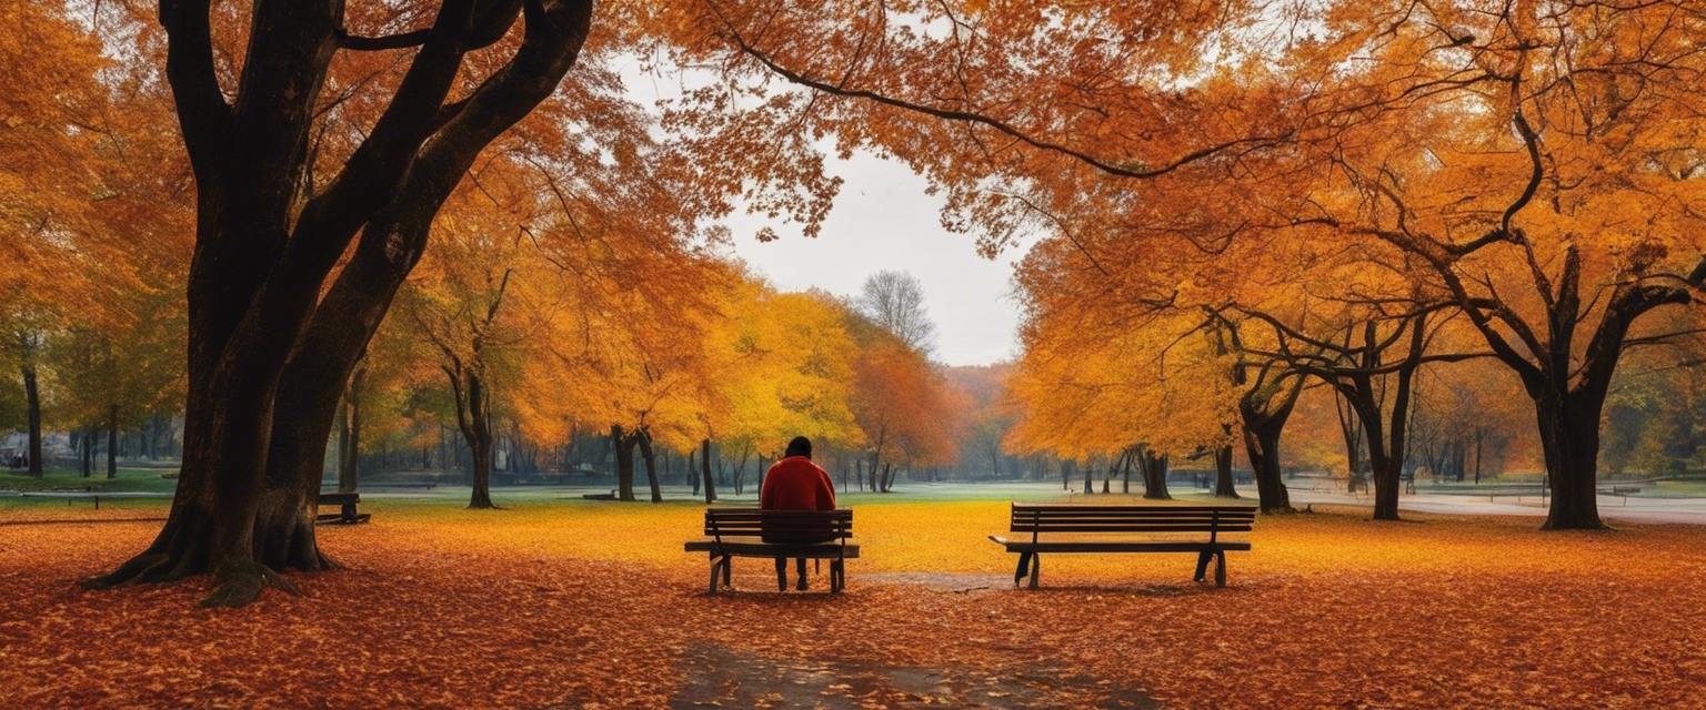
[[[1254,506],[1013,504],[1013,533],[1247,533]]]

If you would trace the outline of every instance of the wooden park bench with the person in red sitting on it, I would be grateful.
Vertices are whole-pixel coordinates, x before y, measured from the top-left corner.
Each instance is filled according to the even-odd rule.
[[[819,543],[771,543],[764,536],[821,536]],[[778,560],[776,582],[783,584],[783,560],[829,560],[829,593],[846,589],[846,560],[858,557],[853,541],[853,511],[761,511],[756,507],[705,509],[705,538],[693,540],[688,552],[711,557],[711,594],[717,581],[728,586],[728,562],[734,557],[768,557]]]

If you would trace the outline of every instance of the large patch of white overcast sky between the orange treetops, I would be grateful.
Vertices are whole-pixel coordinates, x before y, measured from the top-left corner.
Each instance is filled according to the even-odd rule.
[[[771,225],[764,215],[737,213],[734,252],[783,291],[821,288],[856,295],[865,278],[904,271],[925,286],[925,306],[937,324],[933,358],[945,364],[989,364],[1017,354],[1018,305],[1012,298],[1008,249],[995,261],[978,255],[974,237],[942,228],[942,198],[925,194],[925,179],[909,167],[870,153],[833,160],[844,182],[824,232],[812,238],[797,225]],[[761,226],[781,235],[759,242]]]

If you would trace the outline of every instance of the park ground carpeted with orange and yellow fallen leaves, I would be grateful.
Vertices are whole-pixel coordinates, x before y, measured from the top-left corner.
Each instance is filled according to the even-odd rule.
[[[78,591],[165,504],[0,504],[0,688],[15,707],[1686,707],[1706,684],[1706,547],[1686,526],[1264,518],[1230,586],[1189,555],[1044,555],[984,540],[1007,494],[846,495],[848,593],[681,552],[703,506],[456,490],[370,495],[321,528],[348,570],[235,611],[205,582]],[[1320,507],[1317,506],[1317,511]]]

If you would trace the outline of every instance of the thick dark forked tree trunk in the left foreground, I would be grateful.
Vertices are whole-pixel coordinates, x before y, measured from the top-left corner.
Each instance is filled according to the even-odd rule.
[[[165,75],[198,199],[184,465],[155,541],[87,586],[215,572],[218,586],[205,603],[239,606],[266,584],[288,587],[273,570],[326,569],[312,538],[312,504],[353,358],[322,371],[331,380],[326,386],[290,385],[287,366],[304,356],[339,359],[324,352],[317,332],[355,332],[365,342],[379,318],[362,317],[382,317],[389,306],[372,288],[346,284],[360,278],[355,262],[331,289],[322,288],[350,240],[362,235],[357,261],[363,249],[387,254],[380,284],[401,279],[425,245],[432,216],[481,148],[544,100],[573,65],[592,3],[531,3],[515,56],[454,111],[442,109],[464,53],[495,43],[483,39],[490,26],[507,29],[519,5],[444,5],[384,116],[339,177],[307,201],[299,191],[307,135],[341,43],[341,3],[256,3],[234,102],[217,78],[208,2],[160,5]],[[334,308],[339,300],[362,313]],[[285,409],[278,407],[281,393],[326,404],[319,412]],[[275,438],[280,424],[293,432]],[[310,429],[317,436],[302,434]],[[280,446],[285,441],[293,446]]]

